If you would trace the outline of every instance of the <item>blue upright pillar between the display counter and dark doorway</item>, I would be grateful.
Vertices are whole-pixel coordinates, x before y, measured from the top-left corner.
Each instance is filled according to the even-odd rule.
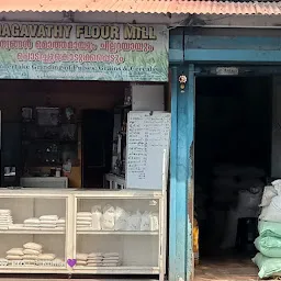
[[[183,92],[182,72],[188,76]],[[171,67],[169,281],[190,281],[193,272],[193,131],[194,66]]]

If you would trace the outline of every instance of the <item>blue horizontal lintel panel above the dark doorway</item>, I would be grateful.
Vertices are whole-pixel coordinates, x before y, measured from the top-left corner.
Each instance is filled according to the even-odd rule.
[[[198,36],[186,32],[184,60],[278,64],[281,61],[281,37]]]

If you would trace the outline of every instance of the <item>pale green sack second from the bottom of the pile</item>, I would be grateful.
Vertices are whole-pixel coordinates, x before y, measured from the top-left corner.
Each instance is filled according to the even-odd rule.
[[[255,246],[266,257],[281,258],[281,238],[277,237],[258,237]]]

